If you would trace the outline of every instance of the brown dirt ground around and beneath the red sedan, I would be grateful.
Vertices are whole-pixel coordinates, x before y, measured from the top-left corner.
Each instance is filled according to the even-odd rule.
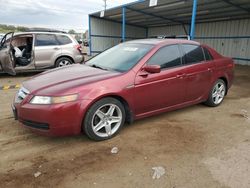
[[[16,89],[0,91],[0,187],[249,188],[250,66],[235,74],[221,106],[139,120],[104,142],[33,134],[13,119]],[[0,75],[0,86],[30,76]],[[166,173],[152,179],[157,166]]]

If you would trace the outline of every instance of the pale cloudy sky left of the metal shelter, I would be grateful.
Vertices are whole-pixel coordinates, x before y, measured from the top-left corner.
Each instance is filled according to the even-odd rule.
[[[135,0],[107,0],[108,8]],[[103,10],[103,0],[0,0],[0,24],[60,30],[88,29],[88,14]]]

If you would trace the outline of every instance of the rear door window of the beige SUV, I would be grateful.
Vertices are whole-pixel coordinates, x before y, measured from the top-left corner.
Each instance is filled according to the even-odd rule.
[[[37,34],[36,46],[55,46],[58,45],[55,35],[50,34]]]

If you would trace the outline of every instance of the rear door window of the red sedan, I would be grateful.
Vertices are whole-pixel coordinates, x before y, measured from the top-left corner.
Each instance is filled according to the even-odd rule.
[[[182,49],[185,54],[184,59],[186,64],[199,63],[205,60],[203,50],[200,46],[182,44]]]

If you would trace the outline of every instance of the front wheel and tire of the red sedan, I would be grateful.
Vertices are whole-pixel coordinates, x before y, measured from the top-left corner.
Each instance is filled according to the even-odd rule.
[[[82,129],[95,141],[114,137],[125,122],[125,109],[122,103],[114,98],[103,98],[94,103],[87,111]]]

